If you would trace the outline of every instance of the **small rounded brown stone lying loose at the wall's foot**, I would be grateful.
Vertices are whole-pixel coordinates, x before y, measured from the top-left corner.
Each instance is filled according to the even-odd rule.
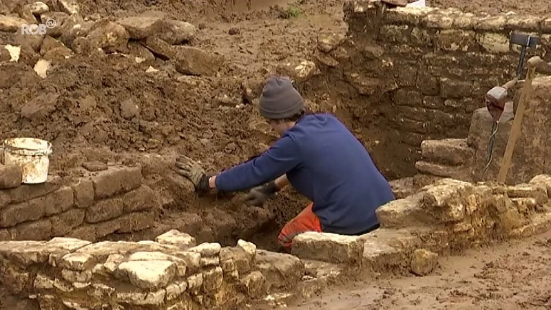
[[[304,276],[304,263],[298,257],[258,250],[256,269],[267,279],[271,287],[293,285]]]

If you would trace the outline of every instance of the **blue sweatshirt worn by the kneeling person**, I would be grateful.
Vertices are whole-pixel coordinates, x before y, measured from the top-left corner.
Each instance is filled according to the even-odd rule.
[[[287,174],[313,201],[322,230],[359,234],[378,224],[375,209],[394,200],[364,145],[331,114],[307,114],[266,152],[220,173],[216,188],[236,192]]]

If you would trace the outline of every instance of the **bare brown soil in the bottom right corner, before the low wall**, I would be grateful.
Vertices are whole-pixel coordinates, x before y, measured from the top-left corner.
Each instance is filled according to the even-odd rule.
[[[377,278],[288,309],[550,309],[551,232],[440,258],[425,277]]]

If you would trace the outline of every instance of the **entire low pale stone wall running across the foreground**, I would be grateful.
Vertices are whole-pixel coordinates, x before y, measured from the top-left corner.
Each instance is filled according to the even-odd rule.
[[[445,179],[377,210],[364,236],[308,232],[292,255],[201,243],[171,230],[154,241],[0,242],[6,309],[241,309],[309,297],[330,282],[424,276],[438,257],[551,228],[551,176],[515,186]],[[256,309],[256,308],[255,308]]]

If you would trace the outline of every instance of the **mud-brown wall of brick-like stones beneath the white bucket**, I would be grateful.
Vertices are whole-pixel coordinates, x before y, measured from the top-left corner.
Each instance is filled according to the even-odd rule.
[[[0,240],[95,241],[153,225],[159,198],[142,184],[141,167],[95,165],[82,174],[21,185],[19,168],[1,166]]]

